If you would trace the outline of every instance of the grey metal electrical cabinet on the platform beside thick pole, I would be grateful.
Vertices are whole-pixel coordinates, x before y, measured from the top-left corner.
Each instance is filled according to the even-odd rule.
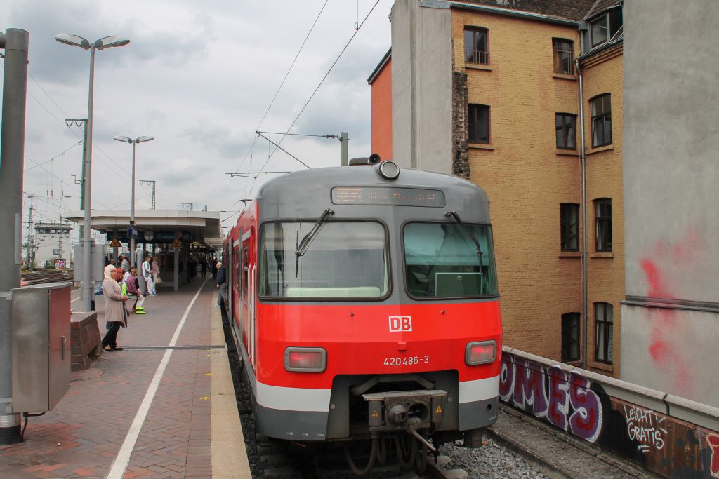
[[[70,282],[12,290],[12,411],[50,411],[70,389]]]

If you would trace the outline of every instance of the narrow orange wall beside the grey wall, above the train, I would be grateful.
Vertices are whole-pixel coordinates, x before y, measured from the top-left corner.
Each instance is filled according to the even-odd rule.
[[[392,60],[372,82],[372,153],[392,158]]]

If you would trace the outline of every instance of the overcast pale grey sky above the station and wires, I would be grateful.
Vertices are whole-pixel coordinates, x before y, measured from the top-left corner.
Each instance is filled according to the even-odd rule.
[[[224,220],[242,208],[238,200],[255,195],[273,176],[260,175],[253,185],[226,173],[305,168],[280,150],[272,154],[274,147],[257,137],[257,129],[348,131],[350,158],[371,153],[366,80],[390,47],[391,5],[392,0],[0,0],[0,30],[29,32],[23,220],[30,203],[35,220],[58,220],[79,210],[80,187],[71,175],[81,177],[82,133],[68,128],[65,118],[87,116],[90,55],[55,41],[56,34],[91,41],[122,35],[131,41],[95,56],[93,210],[130,208],[132,146],[113,136],[154,136],[136,147],[136,175],[157,182],[157,209],[207,205],[222,211]],[[281,146],[311,167],[340,162],[336,139],[287,136]],[[150,187],[135,185],[135,198],[136,212],[150,208]]]

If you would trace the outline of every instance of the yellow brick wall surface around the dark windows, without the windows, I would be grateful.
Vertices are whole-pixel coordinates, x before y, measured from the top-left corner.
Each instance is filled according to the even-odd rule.
[[[466,25],[488,30],[488,65],[464,62]],[[554,74],[552,38],[572,40],[578,54],[577,29],[453,9],[452,37],[455,70],[467,75],[468,103],[490,106],[490,144],[468,144],[468,156],[471,180],[485,188],[490,200],[504,343],[559,361],[562,314],[582,312],[581,258],[580,254],[561,251],[559,205],[581,203],[581,169],[579,131],[576,151],[558,150],[554,115],[573,113],[579,118],[580,112],[577,79]],[[595,71],[600,74],[600,67]],[[621,79],[615,77],[613,72],[603,81],[615,85],[620,92]],[[587,79],[592,88],[597,81]],[[608,87],[596,85],[596,88]],[[586,98],[589,97],[585,93]],[[620,93],[617,101],[620,104]],[[614,108],[614,100],[612,103]],[[620,116],[620,111],[613,110],[614,114]],[[578,123],[579,120],[577,130]],[[618,129],[615,143],[620,144],[620,121],[613,128]],[[613,162],[613,169],[595,167],[587,178],[594,185],[591,195],[607,190],[613,205],[616,201],[615,251],[622,233],[620,147],[617,150],[619,160],[618,164]],[[619,168],[618,174],[615,167]],[[605,185],[606,182],[610,185]],[[588,193],[587,199],[592,197]],[[588,208],[587,214],[592,238],[593,208]],[[593,248],[594,242],[590,243]],[[615,304],[617,294],[623,293],[623,258],[615,253],[609,268],[607,261],[600,260],[605,259],[591,259],[590,263],[590,302],[602,297],[605,298],[602,301]],[[611,294],[605,294],[603,289],[610,289]],[[615,321],[618,313],[617,299]],[[591,304],[590,318],[593,318]],[[592,321],[588,330],[594,330]],[[618,376],[618,332],[615,325],[615,369],[601,370],[615,376]],[[588,358],[594,357],[593,338],[590,335]]]

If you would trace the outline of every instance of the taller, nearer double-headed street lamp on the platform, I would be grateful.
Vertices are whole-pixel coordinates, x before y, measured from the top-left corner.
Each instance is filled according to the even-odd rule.
[[[91,282],[91,239],[90,239],[90,194],[91,194],[91,165],[92,165],[92,101],[93,101],[93,85],[95,83],[95,49],[104,50],[109,47],[122,47],[130,41],[124,37],[113,35],[111,37],[102,37],[101,39],[90,42],[88,39],[60,33],[55,35],[55,39],[65,45],[73,47],[81,47],[83,50],[90,50],[90,87],[88,88],[88,118],[87,128],[85,130],[85,149],[83,151],[83,191],[85,194],[85,220],[83,221],[83,274],[82,274],[82,306],[85,311],[90,311],[90,302],[92,300]]]

